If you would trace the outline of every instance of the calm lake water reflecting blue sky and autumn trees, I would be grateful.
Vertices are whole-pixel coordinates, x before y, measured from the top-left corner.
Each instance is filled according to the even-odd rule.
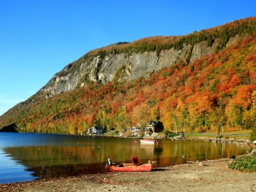
[[[120,137],[0,133],[0,184],[105,172],[108,158],[129,163],[138,156],[142,163],[157,161],[153,165],[157,167],[225,158],[248,150],[229,143],[158,141],[159,145],[143,145],[139,139]]]

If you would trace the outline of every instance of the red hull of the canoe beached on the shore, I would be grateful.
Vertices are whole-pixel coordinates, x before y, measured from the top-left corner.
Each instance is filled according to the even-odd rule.
[[[142,165],[123,165],[123,166],[106,166],[108,172],[150,172],[152,169],[151,164],[142,164]]]

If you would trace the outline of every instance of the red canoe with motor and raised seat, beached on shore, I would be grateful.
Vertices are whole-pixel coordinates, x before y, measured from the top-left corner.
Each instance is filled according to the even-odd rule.
[[[117,164],[112,163],[111,159],[108,158],[108,164],[106,164],[106,172],[150,172],[152,165],[150,161],[148,164],[140,164],[137,157],[132,158],[132,164]]]

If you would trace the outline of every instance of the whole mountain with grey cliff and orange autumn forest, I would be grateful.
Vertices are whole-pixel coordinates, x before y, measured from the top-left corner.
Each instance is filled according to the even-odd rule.
[[[159,119],[165,130],[226,131],[256,122],[256,18],[180,37],[92,50],[0,117],[0,128],[80,134]]]

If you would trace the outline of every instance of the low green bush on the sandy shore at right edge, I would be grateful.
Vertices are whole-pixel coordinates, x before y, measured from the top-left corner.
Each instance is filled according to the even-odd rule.
[[[244,155],[241,158],[236,158],[230,164],[230,169],[236,169],[240,172],[256,172],[256,156]]]

